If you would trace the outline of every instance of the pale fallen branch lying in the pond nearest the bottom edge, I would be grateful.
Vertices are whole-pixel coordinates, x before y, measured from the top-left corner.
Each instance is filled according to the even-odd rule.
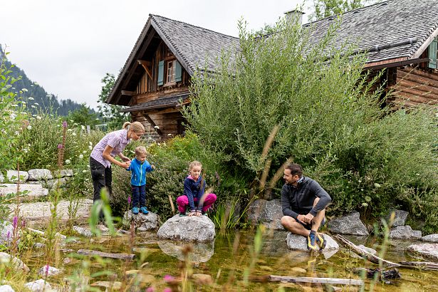
[[[288,283],[325,283],[325,284],[340,284],[340,285],[357,285],[362,286],[363,281],[350,278],[313,278],[313,277],[289,277],[289,276],[252,276],[249,278],[255,282],[288,282]]]

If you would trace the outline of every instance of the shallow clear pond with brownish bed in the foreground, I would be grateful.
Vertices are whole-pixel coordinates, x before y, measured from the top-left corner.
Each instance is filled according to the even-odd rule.
[[[254,252],[255,231],[229,231],[217,234],[213,244],[187,244],[172,241],[159,241],[153,232],[145,232],[130,236],[102,236],[100,238],[78,238],[80,242],[66,244],[56,252],[53,264],[63,272],[48,278],[52,286],[61,291],[68,291],[65,278],[72,276],[76,281],[91,284],[96,281],[120,281],[122,289],[127,291],[145,291],[154,287],[155,291],[163,291],[170,285],[165,281],[166,275],[178,277],[184,273],[209,275],[214,281],[209,286],[201,286],[197,278],[188,281],[187,286],[193,291],[330,291],[330,287],[317,284],[294,284],[243,281],[245,271],[251,268],[251,276],[278,275],[294,277],[331,277],[360,278],[352,272],[353,268],[375,268],[376,265],[363,259],[356,259],[345,249],[335,254],[311,255],[302,251],[289,251],[286,246],[286,231],[267,231],[264,235],[263,247],[258,255]],[[375,239],[345,236],[355,244],[379,249]],[[388,246],[385,259],[390,261],[414,260],[404,250],[412,241],[392,241]],[[135,248],[135,252],[132,249]],[[91,256],[78,256],[71,249],[90,249],[108,253],[137,254],[130,260],[97,259]],[[140,254],[138,253],[142,251]],[[192,251],[191,251],[192,250]],[[183,253],[188,252],[189,266],[184,266]],[[34,271],[45,265],[43,249],[33,249],[21,255],[21,259],[31,268],[28,280],[36,279]],[[179,258],[179,259],[178,259]],[[140,270],[140,271],[132,271]],[[130,272],[126,272],[130,271]],[[140,273],[141,279],[133,279],[127,273]],[[400,268],[402,278],[391,284],[377,283],[375,291],[438,291],[438,271],[419,271],[417,269]],[[77,275],[74,277],[74,275]],[[33,277],[33,278],[32,278]],[[168,276],[167,276],[168,278]],[[139,280],[140,279],[140,280]],[[137,281],[137,283],[134,283]],[[365,291],[370,291],[371,281],[365,280]],[[191,285],[191,286],[190,286]],[[339,285],[334,285],[342,287]],[[140,290],[141,287],[141,290]],[[282,290],[283,289],[283,290]],[[119,288],[115,289],[118,291]],[[105,291],[105,288],[102,288]],[[189,289],[186,289],[189,291]],[[358,286],[344,286],[343,291],[360,291]]]

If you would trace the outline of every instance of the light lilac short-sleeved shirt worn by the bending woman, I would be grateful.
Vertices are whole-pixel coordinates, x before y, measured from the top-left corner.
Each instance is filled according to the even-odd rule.
[[[103,150],[105,150],[105,147],[107,145],[113,147],[113,151],[111,151],[110,155],[115,157],[115,155],[118,155],[125,149],[129,142],[131,142],[131,140],[127,139],[127,130],[109,132],[107,135],[105,135],[105,137],[102,138],[102,140],[98,142],[98,144],[94,146],[90,157],[93,157],[104,167],[110,167],[111,162],[103,158]]]

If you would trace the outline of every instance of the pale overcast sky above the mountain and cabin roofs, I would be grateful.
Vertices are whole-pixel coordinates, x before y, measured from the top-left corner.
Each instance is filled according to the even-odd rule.
[[[9,60],[58,99],[97,105],[105,73],[118,75],[149,14],[237,36],[237,21],[274,24],[301,0],[0,0]],[[304,11],[308,16],[309,9]]]

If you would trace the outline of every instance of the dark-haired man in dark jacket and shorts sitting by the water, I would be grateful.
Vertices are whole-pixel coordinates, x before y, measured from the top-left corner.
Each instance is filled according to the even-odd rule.
[[[325,240],[318,234],[324,224],[325,207],[330,196],[318,182],[303,177],[301,165],[292,163],[284,169],[285,184],[281,188],[281,224],[293,234],[307,237],[308,250],[324,249]],[[319,248],[318,248],[319,246]]]

